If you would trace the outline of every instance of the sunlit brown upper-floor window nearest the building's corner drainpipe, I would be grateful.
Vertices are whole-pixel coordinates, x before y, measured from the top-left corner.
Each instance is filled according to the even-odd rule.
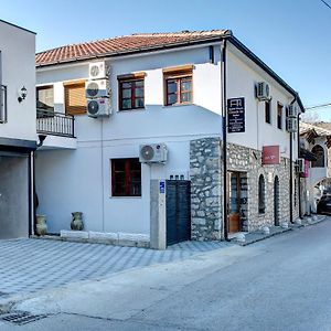
[[[164,105],[183,105],[193,103],[192,65],[163,70]]]

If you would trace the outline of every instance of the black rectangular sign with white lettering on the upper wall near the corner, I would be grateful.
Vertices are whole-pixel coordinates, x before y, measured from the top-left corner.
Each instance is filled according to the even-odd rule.
[[[245,98],[227,99],[227,132],[245,132]]]

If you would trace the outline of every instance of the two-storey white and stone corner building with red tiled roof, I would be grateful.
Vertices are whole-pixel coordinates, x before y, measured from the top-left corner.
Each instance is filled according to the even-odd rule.
[[[100,90],[87,94],[109,96],[102,98],[109,106],[92,100],[88,111],[99,103],[111,114],[92,118],[85,83],[104,78],[105,67],[106,81],[93,83]],[[36,54],[36,83],[39,132],[46,135],[36,191],[51,233],[70,228],[74,211],[84,213],[87,231],[152,242],[167,235],[168,243],[298,217],[298,128],[291,119],[288,132],[287,115],[302,104],[231,31],[134,34],[45,51]],[[153,143],[157,153],[167,148],[167,161],[141,163],[141,146]]]

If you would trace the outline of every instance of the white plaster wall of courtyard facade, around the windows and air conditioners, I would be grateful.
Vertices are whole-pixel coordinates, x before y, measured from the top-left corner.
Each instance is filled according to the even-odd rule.
[[[162,68],[184,64],[194,64],[194,105],[164,107]],[[110,67],[113,115],[105,119],[76,116],[76,150],[38,152],[39,212],[47,215],[51,232],[68,228],[71,212],[82,211],[86,229],[148,234],[150,179],[170,174],[188,178],[190,140],[221,136],[220,64],[209,63],[207,47],[118,58],[110,62]],[[146,72],[146,108],[118,111],[117,75],[140,71]],[[64,111],[63,82],[86,79],[87,73],[88,64],[42,70],[38,72],[38,84],[54,85],[55,110]],[[169,159],[166,166],[141,166],[141,197],[111,196],[110,160],[138,158],[139,146],[153,142],[167,143]]]

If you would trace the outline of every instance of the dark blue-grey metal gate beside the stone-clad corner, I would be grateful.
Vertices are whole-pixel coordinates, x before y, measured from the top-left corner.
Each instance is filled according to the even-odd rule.
[[[167,181],[167,245],[191,239],[191,182]]]

